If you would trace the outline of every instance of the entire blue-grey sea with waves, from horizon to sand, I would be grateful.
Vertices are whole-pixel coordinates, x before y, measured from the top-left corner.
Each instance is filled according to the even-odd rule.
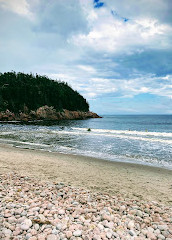
[[[172,115],[108,115],[46,125],[1,122],[0,143],[172,169]]]

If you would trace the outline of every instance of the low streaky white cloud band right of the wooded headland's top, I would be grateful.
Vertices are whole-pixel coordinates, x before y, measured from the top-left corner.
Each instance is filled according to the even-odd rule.
[[[152,94],[160,97],[172,98],[172,74],[157,77],[155,74],[133,73],[126,78],[104,78],[98,71],[88,71],[82,66],[71,66],[58,74],[45,73],[53,79],[67,81],[87,99],[106,97],[133,98],[139,94]],[[98,77],[97,77],[98,75]],[[94,76],[94,77],[93,77]]]

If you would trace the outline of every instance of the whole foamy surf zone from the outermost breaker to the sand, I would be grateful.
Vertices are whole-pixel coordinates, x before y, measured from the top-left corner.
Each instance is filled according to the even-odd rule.
[[[172,133],[110,129],[91,129],[89,132],[87,130],[88,128],[76,127],[65,127],[65,129],[22,129],[22,131],[19,131],[18,129],[17,131],[16,129],[11,131],[11,129],[8,129],[9,132],[0,133],[0,142],[12,144],[19,148],[33,148],[50,152],[61,152],[64,154],[84,155],[90,157],[96,156],[110,161],[141,163],[172,169],[172,161],[170,157]],[[12,136],[9,136],[9,138],[6,139],[5,135],[8,134],[14,135],[17,139],[12,139]],[[32,135],[31,137],[30,134]],[[22,141],[23,136],[25,139]],[[98,140],[97,137],[100,137],[101,139],[100,146],[96,148],[95,142]],[[58,142],[53,141],[57,139]],[[83,139],[85,139],[85,141],[82,142],[81,140]],[[90,141],[87,141],[88,139],[90,139]],[[119,142],[120,144],[120,139],[124,139],[124,141],[128,142],[130,141],[132,145],[129,146],[136,147],[136,151],[134,147],[131,147],[128,151],[127,142],[125,142],[126,144],[122,143],[124,144],[123,150],[116,151],[113,147],[113,143]],[[132,140],[144,142],[137,144],[137,142],[131,142]],[[44,141],[45,144],[41,143],[41,141]],[[71,143],[68,143],[69,141]],[[157,142],[157,144],[149,144],[149,142]],[[83,147],[82,144],[84,143],[88,143],[88,147]],[[91,145],[89,145],[90,143]],[[101,145],[102,143],[103,145]],[[104,143],[107,143],[107,145],[104,145]],[[159,143],[162,143],[163,145]],[[97,141],[96,144],[99,144],[99,142]],[[108,146],[110,146],[110,151]],[[148,152],[149,154],[145,154],[145,152]]]

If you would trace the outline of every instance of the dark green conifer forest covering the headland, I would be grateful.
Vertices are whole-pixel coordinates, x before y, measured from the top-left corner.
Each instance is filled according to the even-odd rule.
[[[86,99],[65,82],[32,73],[0,73],[0,111],[18,113],[44,105],[57,111],[89,110]]]

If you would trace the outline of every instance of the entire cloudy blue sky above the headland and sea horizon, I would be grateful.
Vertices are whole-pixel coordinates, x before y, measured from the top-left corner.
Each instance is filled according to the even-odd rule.
[[[171,0],[0,0],[0,72],[67,82],[98,114],[172,114]]]

